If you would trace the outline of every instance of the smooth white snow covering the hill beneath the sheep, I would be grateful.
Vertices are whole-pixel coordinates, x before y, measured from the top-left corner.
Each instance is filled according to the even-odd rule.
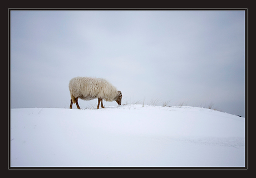
[[[244,167],[245,118],[199,107],[13,108],[11,167]]]

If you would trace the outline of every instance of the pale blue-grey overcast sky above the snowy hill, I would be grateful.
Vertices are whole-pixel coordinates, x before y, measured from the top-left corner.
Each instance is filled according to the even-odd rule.
[[[245,116],[245,11],[11,11],[11,108],[69,108],[77,76]]]

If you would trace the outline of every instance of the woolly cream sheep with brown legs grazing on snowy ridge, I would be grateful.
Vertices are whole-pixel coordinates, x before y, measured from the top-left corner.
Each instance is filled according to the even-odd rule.
[[[91,77],[75,77],[70,80],[68,85],[70,89],[71,103],[70,108],[72,109],[73,103],[76,103],[78,109],[78,98],[81,100],[93,100],[98,98],[97,109],[103,106],[102,100],[105,101],[116,101],[118,105],[121,105],[122,92],[117,91],[116,87],[112,86],[110,82],[103,78],[91,78]]]

